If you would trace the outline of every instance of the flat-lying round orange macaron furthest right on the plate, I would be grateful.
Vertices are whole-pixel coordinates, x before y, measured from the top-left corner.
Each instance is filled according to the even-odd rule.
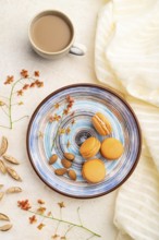
[[[114,160],[121,157],[124,152],[124,147],[119,140],[109,137],[103,140],[101,143],[100,152],[105,158]]]

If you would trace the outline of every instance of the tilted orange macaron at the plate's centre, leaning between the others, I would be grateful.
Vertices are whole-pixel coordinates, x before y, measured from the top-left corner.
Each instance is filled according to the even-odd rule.
[[[94,157],[99,152],[100,146],[101,144],[99,140],[91,136],[82,144],[80,153],[84,158],[88,159]]]

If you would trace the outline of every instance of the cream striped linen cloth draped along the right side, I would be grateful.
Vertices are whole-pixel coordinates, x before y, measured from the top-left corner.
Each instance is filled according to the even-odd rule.
[[[159,1],[107,1],[99,13],[96,74],[133,107],[143,153],[120,188],[114,225],[119,240],[159,240]]]

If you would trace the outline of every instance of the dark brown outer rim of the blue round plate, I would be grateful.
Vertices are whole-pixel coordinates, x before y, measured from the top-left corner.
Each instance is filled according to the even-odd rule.
[[[136,156],[136,159],[131,168],[131,170],[129,171],[129,173],[125,176],[125,178],[120,182],[118,183],[115,187],[113,187],[111,190],[108,190],[106,192],[102,192],[102,193],[97,193],[97,194],[94,194],[94,195],[90,195],[90,196],[85,196],[85,195],[73,195],[73,194],[69,194],[69,193],[64,193],[56,188],[53,188],[51,184],[49,184],[45,179],[42,179],[42,177],[40,176],[40,173],[37,171],[34,163],[33,163],[33,159],[32,159],[32,156],[30,156],[30,153],[29,153],[29,147],[28,147],[28,139],[29,139],[29,132],[30,132],[30,128],[32,128],[32,124],[33,124],[33,121],[36,117],[36,113],[38,112],[38,110],[40,109],[40,107],[52,96],[54,96],[56,94],[64,91],[64,89],[68,89],[68,88],[71,88],[71,87],[96,87],[96,88],[99,88],[99,89],[102,89],[102,91],[106,91],[106,92],[109,92],[110,94],[114,95],[115,97],[118,97],[126,107],[127,109],[131,111],[135,122],[136,122],[136,127],[137,127],[137,130],[138,130],[138,153],[137,153],[137,156]],[[73,199],[83,199],[83,200],[86,200],[86,199],[95,199],[95,197],[99,197],[99,196],[103,196],[114,190],[117,190],[118,188],[120,188],[131,176],[132,173],[134,172],[138,161],[139,161],[139,157],[140,157],[140,153],[142,153],[142,129],[140,129],[140,125],[139,125],[139,121],[136,117],[136,113],[134,112],[133,108],[130,106],[130,104],[120,95],[120,93],[117,93],[115,89],[112,89],[111,87],[108,87],[108,86],[102,86],[100,84],[91,84],[91,83],[80,83],[80,84],[69,84],[69,85],[65,85],[63,87],[60,87],[56,91],[53,91],[51,94],[49,94],[47,97],[45,97],[40,104],[38,104],[38,106],[35,108],[30,119],[29,119],[29,123],[28,123],[28,127],[27,127],[27,132],[26,132],[26,151],[27,151],[27,156],[28,156],[28,159],[29,159],[29,163],[33,167],[33,169],[35,170],[36,175],[40,178],[40,180],[47,185],[49,187],[51,190],[64,195],[64,196],[69,196],[69,197],[73,197]]]

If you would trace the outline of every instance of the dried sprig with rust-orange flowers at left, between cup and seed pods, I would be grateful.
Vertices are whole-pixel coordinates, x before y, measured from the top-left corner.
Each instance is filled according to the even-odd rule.
[[[7,80],[4,81],[4,85],[11,85],[11,89],[10,89],[9,97],[1,96],[2,99],[4,100],[0,100],[0,109],[9,118],[9,125],[0,125],[1,128],[13,129],[14,123],[28,117],[28,116],[23,116],[20,119],[13,120],[13,112],[12,112],[13,106],[16,106],[16,105],[21,106],[24,104],[23,101],[17,101],[16,104],[13,104],[13,99],[15,98],[15,95],[20,97],[24,95],[25,91],[32,87],[44,86],[44,82],[37,79],[39,77],[39,71],[35,71],[34,75],[29,75],[28,71],[23,69],[20,74],[21,74],[21,77],[16,81],[13,75],[8,75]],[[20,83],[22,84],[22,87],[20,89],[16,89],[17,84]]]

